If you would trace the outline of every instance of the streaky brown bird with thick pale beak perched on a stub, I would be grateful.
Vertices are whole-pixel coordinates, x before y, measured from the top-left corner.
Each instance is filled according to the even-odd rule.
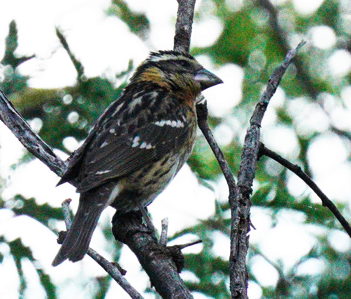
[[[139,210],[166,188],[193,149],[199,94],[219,83],[187,53],[154,52],[138,66],[58,183],[71,182],[80,198],[53,266],[84,257],[108,205],[119,213]]]

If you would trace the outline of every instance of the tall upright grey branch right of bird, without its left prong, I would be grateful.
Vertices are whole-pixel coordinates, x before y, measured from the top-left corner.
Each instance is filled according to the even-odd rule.
[[[285,60],[278,66],[271,75],[266,90],[261,95],[258,104],[250,119],[250,127],[247,129],[243,153],[241,154],[241,164],[238,173],[238,197],[239,207],[233,209],[231,204],[231,248],[229,258],[230,291],[232,298],[247,299],[247,270],[246,255],[249,248],[250,231],[250,194],[252,193],[252,183],[256,171],[256,161],[260,145],[260,126],[266,108],[276,92],[280,80],[287,67],[297,54],[299,49],[305,44],[304,41],[289,51]]]

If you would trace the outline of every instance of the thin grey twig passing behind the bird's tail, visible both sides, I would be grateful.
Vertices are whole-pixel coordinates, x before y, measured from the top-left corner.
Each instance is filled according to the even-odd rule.
[[[65,224],[67,230],[71,227],[72,224],[72,217],[71,217],[71,209],[69,208],[69,203],[71,199],[68,198],[62,202],[62,212],[65,219]],[[88,248],[87,254],[96,261],[110,276],[126,291],[128,295],[130,295],[133,299],[144,299],[143,296],[139,294],[135,288],[133,288],[128,281],[123,277],[121,272],[118,270],[116,266],[102,257],[99,253],[95,250]]]

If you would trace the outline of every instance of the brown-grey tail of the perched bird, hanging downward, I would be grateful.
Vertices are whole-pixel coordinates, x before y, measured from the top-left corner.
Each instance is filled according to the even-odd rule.
[[[65,240],[52,262],[52,266],[61,264],[66,259],[76,262],[81,260],[89,248],[89,243],[104,205],[92,202],[91,196],[80,194],[79,206]]]

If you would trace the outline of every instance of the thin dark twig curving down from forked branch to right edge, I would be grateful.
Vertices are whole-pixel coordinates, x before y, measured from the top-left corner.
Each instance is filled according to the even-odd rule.
[[[273,152],[272,150],[269,150],[268,148],[266,148],[264,146],[264,144],[262,144],[262,143],[261,143],[260,150],[259,150],[259,156],[261,156],[261,155],[265,155],[265,156],[277,161],[279,164],[282,164],[284,167],[291,170],[300,179],[302,179],[314,191],[314,193],[316,193],[318,195],[320,200],[322,200],[323,206],[327,207],[334,214],[334,216],[339,220],[340,224],[343,226],[346,233],[351,238],[351,226],[350,226],[349,222],[347,222],[347,220],[340,213],[338,208],[333,204],[333,202],[322,192],[322,190],[319,189],[319,187],[316,185],[316,183],[311,180],[311,178],[301,169],[300,166],[292,164],[291,162],[284,159],[282,156],[280,156],[276,152]]]

